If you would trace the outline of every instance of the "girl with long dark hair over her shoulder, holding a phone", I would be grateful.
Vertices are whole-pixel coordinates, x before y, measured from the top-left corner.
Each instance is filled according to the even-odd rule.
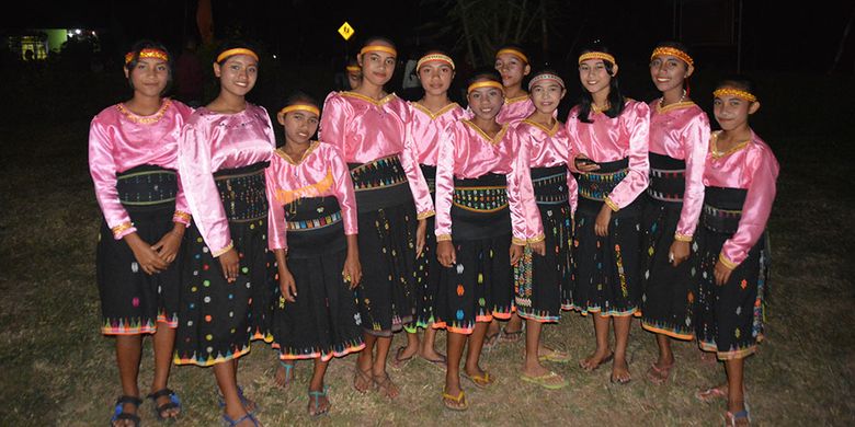
[[[567,131],[580,171],[579,208],[573,233],[575,284],[572,304],[594,313],[596,350],[580,361],[585,371],[614,358],[612,382],[631,380],[626,345],[641,296],[638,196],[648,183],[647,104],[624,97],[617,62],[605,47],[582,50],[579,80],[584,92],[570,111]],[[609,350],[614,321],[615,350]]]

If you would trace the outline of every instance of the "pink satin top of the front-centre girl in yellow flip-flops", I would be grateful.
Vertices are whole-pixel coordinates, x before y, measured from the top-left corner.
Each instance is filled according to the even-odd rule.
[[[511,209],[513,241],[525,244],[543,238],[540,218],[527,224],[526,218],[537,212],[532,193],[528,153],[504,125],[493,138],[469,120],[449,126],[440,141],[436,165],[436,240],[452,239],[452,197],[455,178],[477,178],[488,173],[508,176],[508,203]],[[525,184],[527,181],[527,184]],[[526,191],[527,189],[527,191]]]

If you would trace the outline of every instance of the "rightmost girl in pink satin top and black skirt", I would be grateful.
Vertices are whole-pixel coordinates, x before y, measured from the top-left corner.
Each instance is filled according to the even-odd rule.
[[[721,130],[713,132],[704,170],[704,209],[697,235],[700,277],[700,349],[725,361],[727,389],[699,393],[728,399],[727,425],[750,424],[743,386],[744,360],[763,338],[768,253],[764,233],[775,200],[778,162],[749,126],[760,108],[754,84],[737,76],[713,93]]]

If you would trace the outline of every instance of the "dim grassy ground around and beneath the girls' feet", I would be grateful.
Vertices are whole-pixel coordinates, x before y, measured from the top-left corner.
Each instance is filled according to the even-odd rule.
[[[99,333],[94,247],[100,211],[88,175],[88,120],[50,126],[0,125],[0,424],[106,425],[121,389],[111,338]],[[771,126],[770,126],[771,127]],[[780,131],[780,135],[786,135]],[[798,135],[767,137],[783,165],[770,223],[773,301],[767,339],[749,359],[748,391],[760,425],[852,425],[855,403],[855,305],[851,138]],[[817,150],[817,148],[821,150]],[[832,154],[822,154],[821,151]],[[574,359],[593,349],[590,319],[568,313],[546,328],[547,344]],[[404,337],[395,338],[394,348]],[[140,386],[151,380],[147,341]],[[440,346],[444,347],[443,334]],[[653,337],[635,323],[629,357],[635,380],[608,382],[604,367],[584,373],[575,363],[552,365],[571,385],[546,392],[517,379],[523,344],[502,345],[483,357],[498,378],[490,390],[464,384],[471,408],[442,408],[443,372],[413,360],[392,370],[401,397],[388,403],[351,386],[354,357],[335,359],[328,373],[332,425],[720,425],[723,404],[697,402],[693,393],[723,380],[721,366],[700,362],[696,346],[679,343],[673,381],[654,386],[643,373],[656,357]],[[240,379],[266,425],[309,422],[306,388],[310,363],[297,368],[287,391],[272,383],[274,353],[263,344],[241,359]],[[219,422],[213,372],[173,368],[171,386],[184,402],[178,425]],[[144,423],[156,423],[151,404]]]

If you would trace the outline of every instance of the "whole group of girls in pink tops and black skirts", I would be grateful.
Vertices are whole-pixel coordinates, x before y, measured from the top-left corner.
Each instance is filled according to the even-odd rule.
[[[718,84],[721,130],[710,134],[684,90],[694,61],[683,45],[653,50],[662,96],[650,104],[622,94],[616,58],[595,45],[579,57],[583,95],[561,124],[565,81],[533,72],[520,46],[469,79],[467,108],[448,97],[455,64],[441,50],[418,61],[421,100],[385,92],[397,56],[390,41],[369,38],[349,68],[360,77],[351,91],[330,93],[322,112],[306,94],[287,99],[276,148],[267,112],[246,101],[259,73],[251,46],[218,50],[219,94],[195,111],[163,96],[163,46],[140,42],[127,54],[134,95],[95,116],[89,143],[104,214],[102,333],[116,336],[123,389],[113,425],[139,424],[145,334],[158,418],[181,412],[168,388],[174,361],[212,367],[223,419],[249,426],[259,425],[256,405],[238,385],[238,360],[253,339],[277,349],[282,386],[297,360],[314,360],[317,415],[331,407],[329,361],[352,353],[355,390],[395,399],[387,359],[392,334],[406,330],[392,363],[419,357],[444,368],[442,402],[463,411],[461,378],[495,382],[482,349],[523,332],[520,379],[568,385],[545,362],[570,356],[542,341],[561,310],[592,315],[595,349],[579,365],[612,361],[618,384],[631,380],[632,316],[656,334],[654,383],[675,366],[670,339],[697,339],[727,372],[726,385],[698,399],[726,399],[726,422],[748,424],[743,360],[762,338],[763,236],[778,172],[748,124],[760,107],[752,83]],[[447,333],[445,355],[436,330]]]

